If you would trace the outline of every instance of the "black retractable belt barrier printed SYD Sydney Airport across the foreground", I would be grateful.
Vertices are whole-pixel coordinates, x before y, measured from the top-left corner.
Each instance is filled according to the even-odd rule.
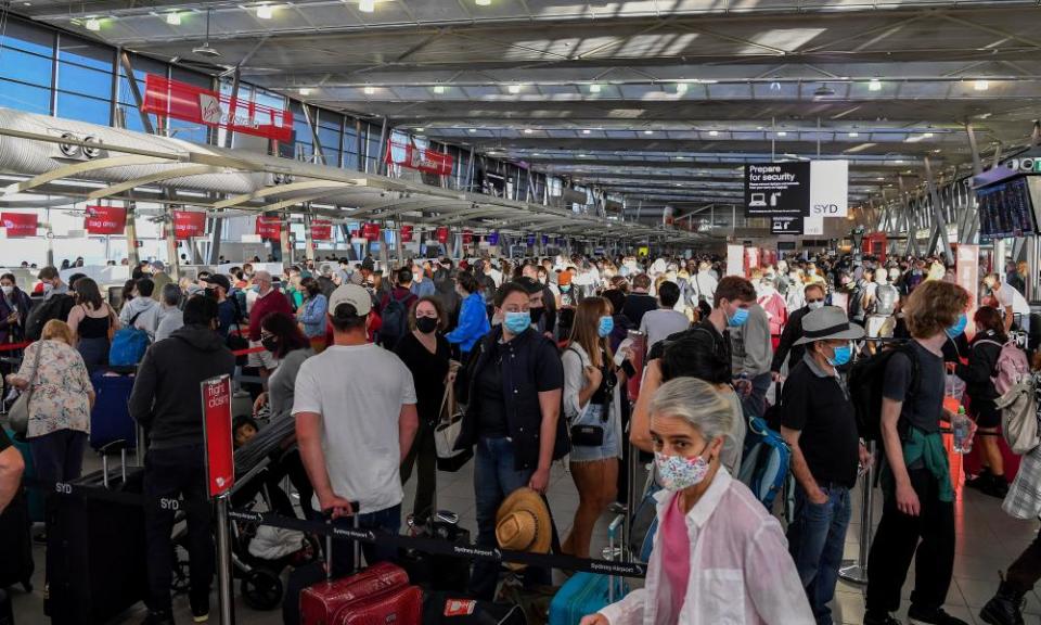
[[[119,493],[110,490],[100,486],[82,486],[69,482],[42,482],[36,479],[23,480],[26,488],[50,493],[59,497],[77,497],[97,501],[106,501],[121,506],[147,506],[149,497],[145,495],[132,493]],[[182,510],[189,505],[210,506],[209,500],[198,500],[188,503],[181,499],[157,498],[155,506],[167,511]],[[256,512],[247,509],[232,509],[229,516],[235,521],[256,523],[258,525],[268,525],[271,527],[281,527],[285,530],[296,530],[307,534],[317,534],[320,536],[332,536],[346,540],[356,540],[360,543],[394,545],[401,549],[414,549],[424,553],[437,556],[449,556],[454,558],[471,558],[477,560],[490,560],[493,562],[527,564],[530,566],[542,566],[547,569],[565,569],[571,571],[584,571],[589,573],[602,573],[605,575],[620,575],[624,577],[645,577],[646,565],[634,562],[612,562],[609,560],[593,560],[588,558],[575,558],[573,556],[528,553],[525,551],[510,551],[499,548],[478,547],[476,545],[461,545],[449,540],[438,540],[435,538],[417,538],[400,534],[377,533],[371,530],[355,530],[354,527],[340,526],[335,523],[323,523],[320,521],[305,521],[290,516],[283,516],[273,512]]]

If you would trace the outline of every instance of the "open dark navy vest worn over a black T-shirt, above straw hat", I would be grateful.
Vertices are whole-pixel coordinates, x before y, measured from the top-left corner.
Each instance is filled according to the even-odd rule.
[[[473,447],[480,436],[477,393],[474,390],[476,372],[484,367],[493,367],[493,348],[502,337],[502,327],[491,332],[475,347],[468,365],[470,405],[463,416],[462,431],[455,441],[457,449]],[[548,367],[555,379],[555,387],[564,387],[564,369],[556,346],[549,339],[534,330],[527,330],[510,341],[499,345],[502,357],[502,396],[505,398],[506,425],[514,447],[514,469],[534,471],[539,463],[539,436],[542,426],[542,409],[539,406],[539,391],[536,371]],[[563,412],[563,410],[562,410]],[[557,460],[570,450],[567,424],[563,413],[556,421],[556,441],[553,446],[553,459]]]

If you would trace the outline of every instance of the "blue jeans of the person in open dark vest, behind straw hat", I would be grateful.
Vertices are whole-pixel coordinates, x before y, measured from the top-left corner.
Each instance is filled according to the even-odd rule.
[[[511,493],[523,488],[531,481],[535,471],[517,471],[513,468],[513,441],[510,438],[485,438],[477,441],[474,464],[474,495],[477,501],[477,545],[497,547],[496,512]],[[470,577],[470,594],[478,599],[494,599],[499,583],[499,564],[490,560],[477,560]],[[550,572],[528,567],[525,584],[549,584]]]

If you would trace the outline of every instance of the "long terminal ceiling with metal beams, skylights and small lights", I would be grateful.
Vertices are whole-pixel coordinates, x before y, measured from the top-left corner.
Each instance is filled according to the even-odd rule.
[[[21,7],[17,7],[21,4]],[[531,164],[629,206],[847,158],[853,203],[1041,117],[1037,0],[31,0],[35,20]],[[208,34],[207,34],[208,29]],[[193,52],[208,42],[219,55]]]

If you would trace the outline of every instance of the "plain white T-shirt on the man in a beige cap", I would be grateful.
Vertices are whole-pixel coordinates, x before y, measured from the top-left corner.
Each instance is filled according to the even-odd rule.
[[[333,492],[358,501],[362,513],[397,506],[404,496],[398,419],[406,404],[415,404],[412,373],[377,345],[332,345],[300,365],[293,416],[321,414]]]

